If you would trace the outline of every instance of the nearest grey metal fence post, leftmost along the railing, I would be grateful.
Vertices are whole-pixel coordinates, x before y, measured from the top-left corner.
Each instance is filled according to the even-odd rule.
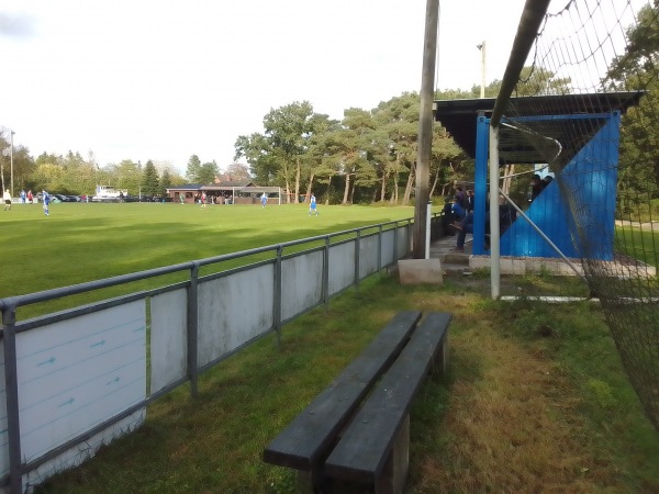
[[[2,337],[4,346],[4,386],[7,396],[7,437],[9,447],[10,491],[23,492],[21,468],[21,425],[19,415],[19,377],[16,368],[16,307],[5,306],[2,311]]]

